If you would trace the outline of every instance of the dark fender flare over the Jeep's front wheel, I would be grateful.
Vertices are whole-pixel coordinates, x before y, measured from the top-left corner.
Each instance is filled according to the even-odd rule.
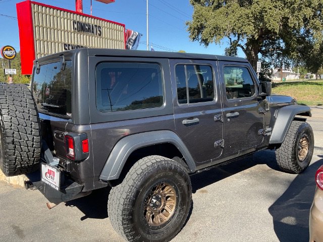
[[[303,105],[289,105],[277,109],[276,122],[272,131],[270,144],[281,144],[284,142],[287,131],[295,118],[295,115],[311,116],[311,108]]]

